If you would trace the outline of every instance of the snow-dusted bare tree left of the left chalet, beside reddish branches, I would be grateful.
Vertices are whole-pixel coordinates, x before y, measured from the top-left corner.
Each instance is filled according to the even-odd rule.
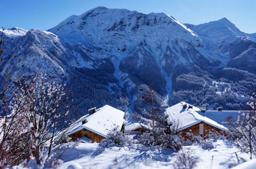
[[[67,134],[65,129],[69,126],[66,121],[69,104],[64,86],[54,81],[47,82],[46,77],[40,75],[30,84],[21,84],[19,87],[22,95],[26,93],[23,101],[28,103],[23,109],[26,121],[31,126],[29,132],[33,140],[32,155],[36,163],[42,166],[52,162],[57,151],[60,154],[60,138]]]

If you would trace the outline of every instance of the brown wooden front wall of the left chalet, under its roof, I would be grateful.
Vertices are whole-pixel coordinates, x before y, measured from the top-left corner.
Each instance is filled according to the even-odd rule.
[[[103,139],[105,139],[104,137],[87,130],[78,131],[72,135],[69,135],[69,137],[71,137],[71,140],[76,140],[81,137],[88,137],[89,139],[91,139],[91,143],[100,143]]]

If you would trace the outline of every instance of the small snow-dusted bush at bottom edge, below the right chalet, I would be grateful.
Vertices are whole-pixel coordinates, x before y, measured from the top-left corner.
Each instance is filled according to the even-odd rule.
[[[192,151],[182,151],[176,156],[174,161],[175,169],[192,169],[199,162],[199,156],[196,156]]]

